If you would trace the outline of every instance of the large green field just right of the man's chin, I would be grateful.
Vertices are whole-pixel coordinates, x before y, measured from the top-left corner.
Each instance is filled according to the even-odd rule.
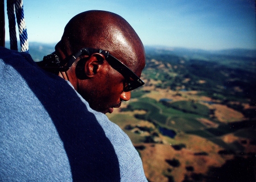
[[[198,107],[197,109],[193,108],[193,112],[187,112],[190,109],[189,101],[183,105],[180,105],[180,109],[174,109],[171,107],[166,107],[162,103],[150,99],[150,98],[141,98],[138,101],[129,104],[130,111],[134,110],[144,110],[146,114],[137,115],[138,118],[154,122],[157,125],[170,128],[176,131],[192,131],[205,128],[201,122],[197,121],[196,118],[208,117],[205,115],[208,112],[208,108],[205,107],[206,111],[203,111],[204,107]],[[177,103],[176,103],[177,104]],[[189,107],[187,107],[189,105]],[[186,110],[184,112],[184,110]],[[202,112],[201,112],[202,110]],[[200,115],[199,113],[203,113]]]

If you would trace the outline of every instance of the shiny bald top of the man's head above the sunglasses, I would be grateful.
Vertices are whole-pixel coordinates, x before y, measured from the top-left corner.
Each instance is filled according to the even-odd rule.
[[[81,48],[104,49],[134,71],[144,64],[144,48],[137,33],[121,16],[107,11],[85,11],[73,17],[56,48],[65,56]]]

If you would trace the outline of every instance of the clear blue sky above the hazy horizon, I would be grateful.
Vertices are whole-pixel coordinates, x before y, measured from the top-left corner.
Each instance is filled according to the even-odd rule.
[[[254,0],[23,0],[23,6],[29,42],[57,43],[73,16],[105,10],[125,18],[144,45],[256,49]]]

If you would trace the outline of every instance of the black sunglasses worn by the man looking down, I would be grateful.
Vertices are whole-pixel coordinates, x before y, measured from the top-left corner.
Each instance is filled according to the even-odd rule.
[[[139,78],[133,71],[129,69],[125,64],[119,61],[117,58],[109,54],[108,51],[102,49],[93,49],[93,48],[83,48],[80,49],[79,52],[75,53],[68,61],[67,69],[69,69],[72,64],[76,61],[76,59],[81,55],[92,55],[93,53],[100,53],[105,57],[105,60],[108,61],[109,65],[113,67],[113,69],[117,70],[119,73],[123,75],[125,78],[126,85],[123,88],[123,91],[129,92],[143,86],[144,82]]]

